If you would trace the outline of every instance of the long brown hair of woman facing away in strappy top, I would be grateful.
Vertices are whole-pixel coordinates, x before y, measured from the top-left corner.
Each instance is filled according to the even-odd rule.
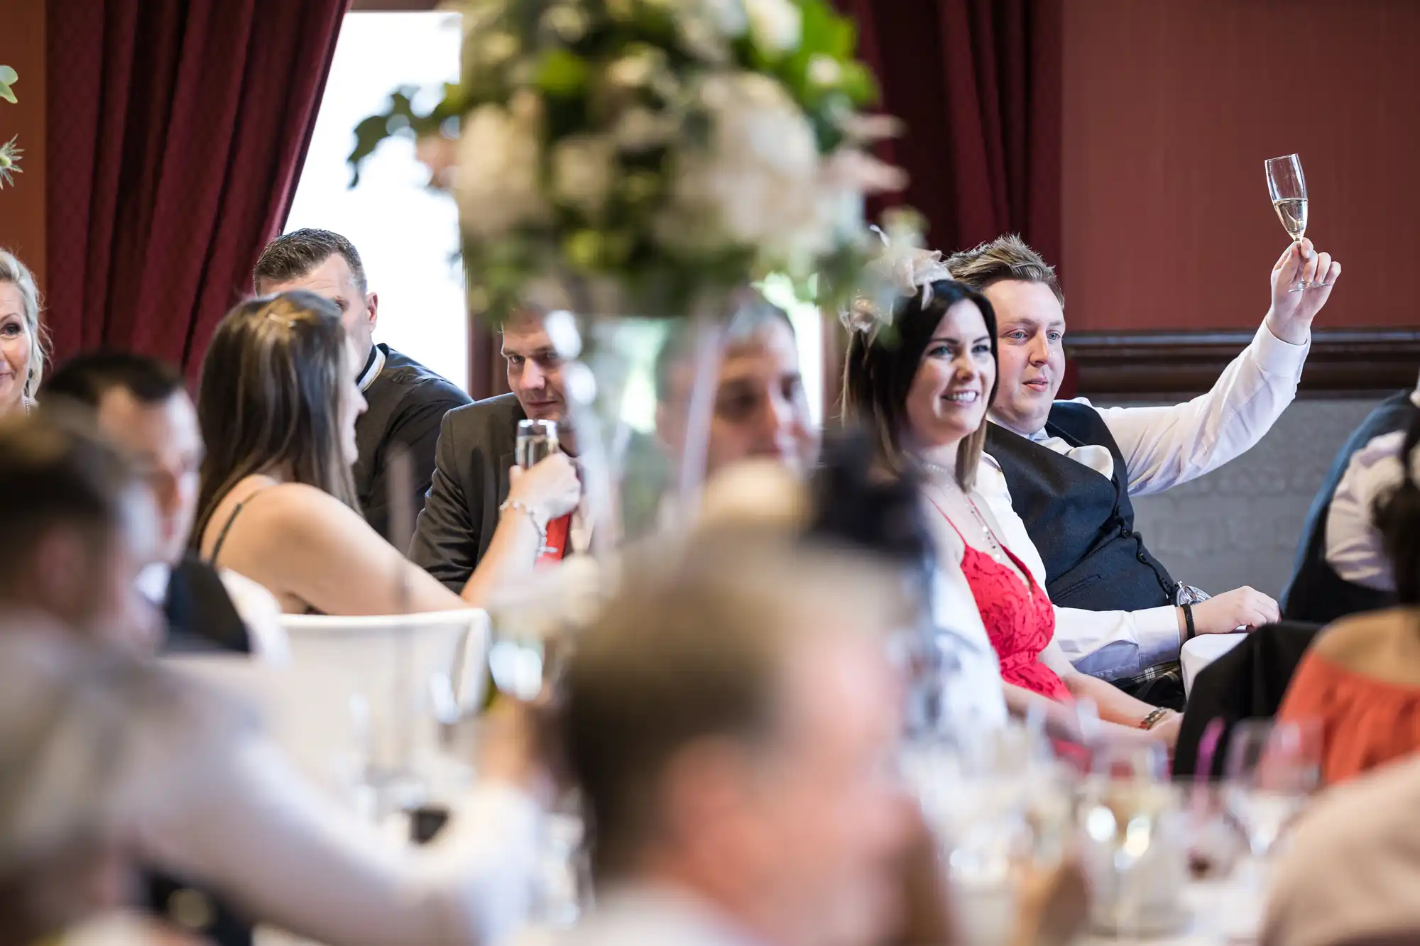
[[[256,473],[281,472],[358,509],[339,429],[345,338],[335,303],[304,290],[241,303],[217,325],[197,386],[207,455],[195,548],[227,493]]]

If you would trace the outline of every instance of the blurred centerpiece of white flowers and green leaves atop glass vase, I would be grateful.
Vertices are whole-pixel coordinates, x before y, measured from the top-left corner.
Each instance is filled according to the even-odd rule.
[[[459,200],[473,308],[677,317],[768,273],[841,298],[903,185],[892,122],[828,0],[462,0],[463,74],[356,128],[356,169],[420,138]],[[812,278],[812,277],[816,277]]]

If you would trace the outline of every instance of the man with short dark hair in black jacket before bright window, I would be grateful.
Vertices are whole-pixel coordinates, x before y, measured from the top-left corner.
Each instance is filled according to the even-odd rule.
[[[406,528],[425,507],[435,470],[435,445],[443,416],[469,403],[457,385],[436,375],[389,345],[375,344],[379,295],[365,281],[365,266],[349,240],[329,230],[295,230],[277,237],[261,251],[251,283],[257,295],[304,288],[341,308],[345,330],[364,359],[359,389],[368,405],[355,420],[355,493],[371,527],[405,547],[409,535],[390,535],[390,462],[408,452],[413,493]],[[396,501],[403,501],[398,497]]]

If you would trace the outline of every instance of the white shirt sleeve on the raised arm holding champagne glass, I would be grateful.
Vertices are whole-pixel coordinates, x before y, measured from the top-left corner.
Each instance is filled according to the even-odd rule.
[[[1125,457],[1129,493],[1162,493],[1250,450],[1296,396],[1309,349],[1309,339],[1284,342],[1264,322],[1207,393],[1172,408],[1099,411]]]

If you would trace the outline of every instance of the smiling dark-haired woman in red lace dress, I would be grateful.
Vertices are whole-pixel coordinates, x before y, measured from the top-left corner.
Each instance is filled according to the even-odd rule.
[[[917,261],[934,263],[936,254]],[[910,472],[922,483],[929,516],[943,526],[939,568],[949,587],[974,599],[1001,663],[1007,707],[1025,714],[1037,706],[1052,736],[1078,737],[1068,705],[1089,699],[1112,736],[1172,749],[1177,713],[1156,712],[1071,666],[1054,642],[1055,609],[1045,589],[1000,540],[1000,527],[973,489],[995,396],[991,304],[960,283],[917,284],[920,291],[899,303],[889,320],[859,310],[851,325],[845,408],[875,429],[886,469]]]

